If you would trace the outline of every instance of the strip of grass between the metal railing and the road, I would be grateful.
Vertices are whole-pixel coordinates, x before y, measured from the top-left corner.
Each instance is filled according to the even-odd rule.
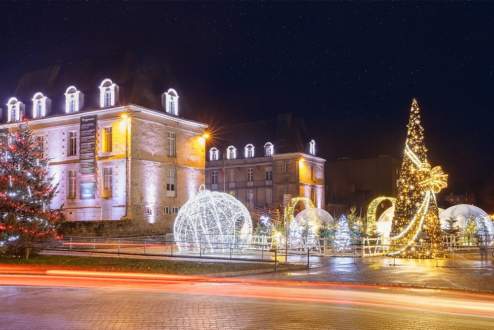
[[[271,263],[193,262],[179,260],[135,259],[71,255],[35,255],[25,258],[0,258],[0,264],[52,266],[56,269],[77,269],[102,272],[162,273],[198,275],[222,272],[273,269]]]

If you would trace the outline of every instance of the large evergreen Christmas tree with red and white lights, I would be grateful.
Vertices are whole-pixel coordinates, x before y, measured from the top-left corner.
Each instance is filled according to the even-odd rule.
[[[51,184],[43,151],[27,119],[0,139],[1,254],[36,251],[58,236],[56,230],[64,217],[62,207],[50,208],[58,184]]]

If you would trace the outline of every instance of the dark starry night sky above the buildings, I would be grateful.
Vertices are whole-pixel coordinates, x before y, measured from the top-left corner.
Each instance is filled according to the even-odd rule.
[[[291,111],[329,160],[402,159],[415,97],[432,166],[450,174],[451,192],[478,193],[493,178],[493,7],[0,2],[0,107],[26,71],[140,46],[166,56],[197,120],[218,127]]]

